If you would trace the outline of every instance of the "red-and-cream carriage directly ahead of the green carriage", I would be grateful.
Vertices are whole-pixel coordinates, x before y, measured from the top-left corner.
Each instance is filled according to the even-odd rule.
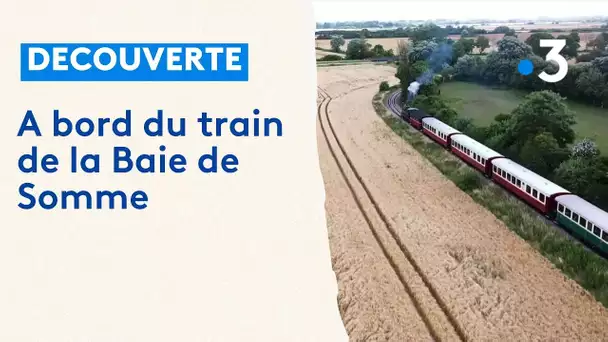
[[[556,210],[555,198],[570,193],[506,158],[492,161],[492,179],[547,216]]]

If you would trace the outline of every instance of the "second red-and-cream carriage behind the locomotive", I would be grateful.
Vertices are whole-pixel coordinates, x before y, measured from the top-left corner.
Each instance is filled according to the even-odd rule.
[[[492,160],[504,158],[502,154],[489,149],[464,134],[456,134],[451,137],[450,150],[460,157],[460,159],[480,170],[488,177],[492,176]]]

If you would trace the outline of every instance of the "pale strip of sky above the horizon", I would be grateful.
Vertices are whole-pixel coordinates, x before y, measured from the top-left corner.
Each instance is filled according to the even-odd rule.
[[[608,16],[606,0],[313,1],[313,6],[316,22]]]

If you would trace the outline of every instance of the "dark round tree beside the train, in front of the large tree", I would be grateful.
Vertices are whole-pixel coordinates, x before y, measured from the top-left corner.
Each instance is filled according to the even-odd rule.
[[[568,157],[568,149],[558,146],[557,140],[548,132],[526,141],[519,154],[523,165],[544,177],[549,177]]]

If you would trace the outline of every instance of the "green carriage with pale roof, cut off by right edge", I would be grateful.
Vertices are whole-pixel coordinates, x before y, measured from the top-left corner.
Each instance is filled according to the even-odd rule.
[[[608,254],[608,213],[574,194],[558,196],[555,220]]]

